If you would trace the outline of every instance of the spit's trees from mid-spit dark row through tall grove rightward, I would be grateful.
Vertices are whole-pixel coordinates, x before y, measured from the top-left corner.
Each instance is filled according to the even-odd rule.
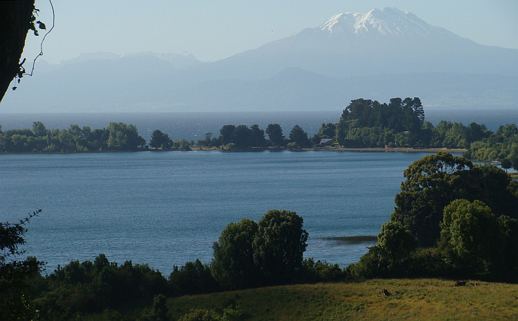
[[[265,138],[265,133],[268,139]],[[370,99],[354,99],[343,110],[338,123],[322,124],[318,133],[308,137],[307,133],[294,126],[289,138],[282,133],[279,124],[269,124],[266,130],[257,124],[224,125],[220,136],[207,133],[198,146],[236,149],[264,148],[311,148],[319,146],[321,139],[332,139],[345,147],[430,147],[430,148],[468,148],[473,142],[479,142],[492,135],[484,125],[440,121],[433,126],[425,121],[425,113],[418,97],[411,99],[392,98],[389,104],[381,104]]]

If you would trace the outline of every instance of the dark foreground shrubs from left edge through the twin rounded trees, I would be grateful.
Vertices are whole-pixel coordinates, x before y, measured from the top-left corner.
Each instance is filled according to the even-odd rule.
[[[6,249],[8,255],[20,253],[17,245],[23,244],[25,231],[19,224],[1,224],[0,249]],[[46,276],[38,273],[40,263],[35,258],[13,265],[4,264],[4,255],[0,257],[0,304],[5,309],[0,313],[35,315],[39,311],[36,314],[42,320],[122,320],[123,316],[124,320],[168,320],[166,298],[291,282],[343,280],[345,273],[338,264],[303,260],[306,240],[302,217],[290,211],[271,210],[258,223],[242,220],[229,224],[214,244],[212,266],[200,260],[186,262],[184,266],[173,266],[169,279],[146,264],[118,264],[104,254],[93,261],[75,260],[58,266]],[[224,319],[216,320],[230,320],[237,313],[234,310],[227,309]],[[193,311],[194,319],[185,320],[211,315]],[[4,316],[12,319],[11,314]]]

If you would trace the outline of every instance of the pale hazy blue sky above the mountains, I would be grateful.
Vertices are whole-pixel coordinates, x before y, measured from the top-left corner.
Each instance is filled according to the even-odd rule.
[[[340,12],[395,7],[489,46],[518,49],[517,0],[52,0],[55,29],[44,43],[51,63],[82,52],[192,53],[215,61],[314,28]],[[48,28],[48,0],[36,0]],[[29,35],[23,57],[39,52]]]

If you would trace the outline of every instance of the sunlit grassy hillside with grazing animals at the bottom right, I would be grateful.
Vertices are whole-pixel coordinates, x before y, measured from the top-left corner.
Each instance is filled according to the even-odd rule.
[[[239,306],[240,320],[518,320],[517,284],[453,285],[437,279],[301,284],[184,296],[167,304],[173,320],[191,309],[221,313],[231,304]]]

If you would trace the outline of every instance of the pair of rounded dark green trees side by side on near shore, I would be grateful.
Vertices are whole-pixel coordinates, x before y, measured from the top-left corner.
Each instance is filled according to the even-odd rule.
[[[303,271],[307,235],[303,218],[290,211],[229,224],[213,246],[213,276],[225,289],[294,282]]]

